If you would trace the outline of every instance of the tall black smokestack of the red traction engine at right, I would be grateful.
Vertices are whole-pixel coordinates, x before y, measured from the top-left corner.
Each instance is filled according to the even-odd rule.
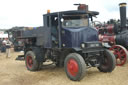
[[[126,3],[120,3],[120,22],[121,22],[121,27],[126,26]]]

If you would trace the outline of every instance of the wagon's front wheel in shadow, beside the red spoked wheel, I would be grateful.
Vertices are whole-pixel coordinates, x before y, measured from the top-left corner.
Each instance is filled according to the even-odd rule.
[[[112,72],[115,66],[116,66],[116,58],[114,54],[109,50],[105,50],[104,58],[102,59],[101,64],[98,67],[99,71]]]

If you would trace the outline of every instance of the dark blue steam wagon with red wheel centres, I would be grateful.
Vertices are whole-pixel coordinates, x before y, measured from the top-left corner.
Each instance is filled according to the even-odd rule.
[[[115,56],[99,42],[98,31],[90,25],[99,13],[89,11],[87,5],[76,5],[78,10],[48,11],[43,15],[43,27],[23,32],[28,70],[39,70],[47,59],[64,66],[67,77],[74,81],[81,80],[89,67],[114,70]]]

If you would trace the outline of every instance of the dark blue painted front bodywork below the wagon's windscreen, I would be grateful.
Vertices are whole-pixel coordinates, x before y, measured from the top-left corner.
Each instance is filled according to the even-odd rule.
[[[91,27],[63,28],[61,40],[66,48],[80,48],[81,43],[98,41],[98,32]]]

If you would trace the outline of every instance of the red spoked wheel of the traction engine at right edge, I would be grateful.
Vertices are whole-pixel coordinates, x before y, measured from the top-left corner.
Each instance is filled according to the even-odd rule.
[[[116,65],[122,66],[126,63],[128,58],[127,50],[121,45],[114,45],[110,48],[116,57]]]

